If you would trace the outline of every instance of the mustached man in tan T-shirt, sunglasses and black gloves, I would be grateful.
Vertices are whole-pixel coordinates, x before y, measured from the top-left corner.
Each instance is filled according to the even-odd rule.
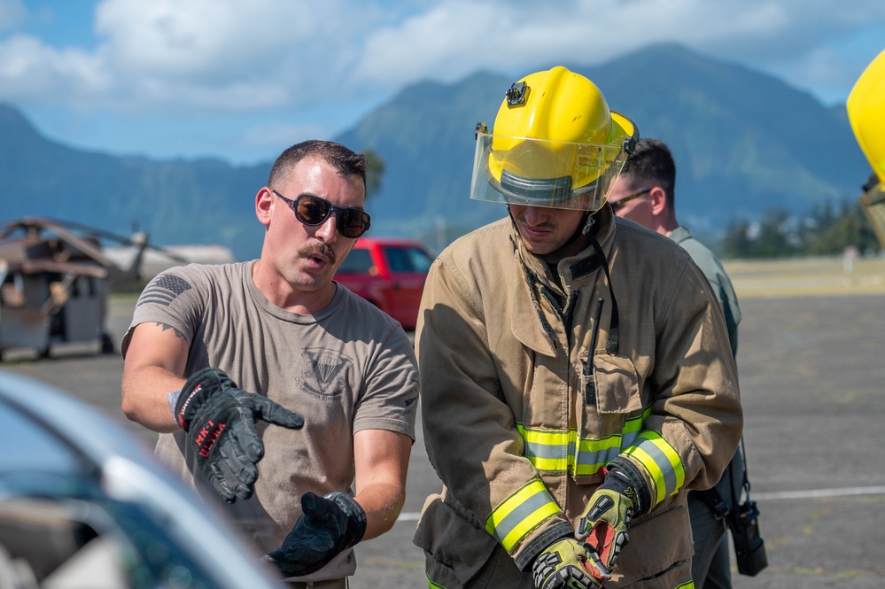
[[[412,345],[332,281],[369,229],[365,174],[338,143],[283,151],[255,197],[260,259],[157,276],[120,345],[124,413],[296,587],[346,587],[405,498]]]

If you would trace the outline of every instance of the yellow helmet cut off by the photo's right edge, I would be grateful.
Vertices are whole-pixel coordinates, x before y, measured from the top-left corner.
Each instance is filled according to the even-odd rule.
[[[848,120],[878,182],[864,186],[864,212],[885,247],[885,51],[866,66],[848,96]]]

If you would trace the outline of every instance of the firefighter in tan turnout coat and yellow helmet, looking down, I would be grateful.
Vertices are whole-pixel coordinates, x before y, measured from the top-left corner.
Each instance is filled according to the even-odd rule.
[[[477,125],[470,198],[508,214],[440,253],[416,329],[431,587],[691,586],[686,492],[718,481],[741,405],[702,272],[606,204],[637,137],[564,67]]]

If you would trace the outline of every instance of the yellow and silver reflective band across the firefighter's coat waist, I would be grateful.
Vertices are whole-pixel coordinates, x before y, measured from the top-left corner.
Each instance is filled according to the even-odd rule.
[[[516,429],[525,442],[524,456],[535,469],[593,475],[621,453],[622,448],[633,445],[650,413],[649,407],[642,415],[626,420],[620,434],[607,438],[580,438],[578,430],[573,429],[532,430],[522,423],[516,423]]]

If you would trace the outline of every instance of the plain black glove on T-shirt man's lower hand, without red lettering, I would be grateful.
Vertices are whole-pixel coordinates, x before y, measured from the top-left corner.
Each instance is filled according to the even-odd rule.
[[[264,556],[286,577],[301,577],[322,569],[366,533],[366,512],[346,493],[330,492],[319,497],[308,491],[301,496],[301,510],[304,513],[283,546]]]

